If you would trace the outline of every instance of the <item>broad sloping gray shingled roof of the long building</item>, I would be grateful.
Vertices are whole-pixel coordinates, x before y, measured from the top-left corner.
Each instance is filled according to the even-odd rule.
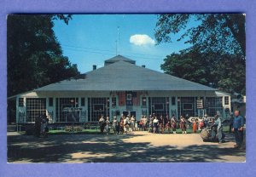
[[[52,83],[36,91],[216,90],[122,60],[82,76]]]

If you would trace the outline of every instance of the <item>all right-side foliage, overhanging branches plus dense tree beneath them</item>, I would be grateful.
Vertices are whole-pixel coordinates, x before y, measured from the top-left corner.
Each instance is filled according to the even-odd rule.
[[[245,94],[245,15],[160,14],[155,28],[158,43],[172,35],[191,43],[189,49],[166,56],[161,69],[195,83]]]

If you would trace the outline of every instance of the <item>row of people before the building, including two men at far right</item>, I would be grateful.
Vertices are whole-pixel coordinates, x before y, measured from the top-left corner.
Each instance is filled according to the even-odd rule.
[[[132,131],[148,131],[153,134],[170,133],[176,134],[177,128],[182,130],[183,134],[187,134],[187,128],[189,126],[188,120],[181,116],[179,120],[175,115],[169,118],[168,115],[163,117],[156,117],[155,114],[149,115],[149,117],[142,116],[139,120],[136,117],[127,115],[121,115],[119,121],[117,117],[113,117],[113,121],[110,122],[109,117],[103,116],[99,119],[101,133],[106,132],[109,134],[110,128],[113,128],[114,134],[127,134]],[[236,138],[236,148],[240,148],[243,142],[243,124],[244,119],[240,116],[239,111],[235,111],[235,117],[230,117],[230,132],[234,132]],[[192,132],[196,133],[197,130],[202,131],[204,128],[210,129],[211,140],[217,139],[219,143],[224,142],[223,133],[223,120],[216,114],[214,118],[208,118],[207,114],[201,119],[195,119],[192,123]]]

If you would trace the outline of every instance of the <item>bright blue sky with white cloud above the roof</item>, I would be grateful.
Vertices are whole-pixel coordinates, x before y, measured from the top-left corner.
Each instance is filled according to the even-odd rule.
[[[172,35],[173,43],[156,45],[156,14],[74,14],[68,25],[54,22],[63,55],[81,73],[91,71],[93,65],[104,66],[104,60],[116,54],[136,60],[137,66],[161,71],[166,55],[189,47],[184,40],[175,40],[180,34]]]

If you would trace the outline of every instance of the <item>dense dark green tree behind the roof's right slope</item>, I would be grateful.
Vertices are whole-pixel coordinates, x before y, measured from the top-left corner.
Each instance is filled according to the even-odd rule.
[[[245,94],[245,65],[239,57],[199,51],[172,53],[166,56],[161,69],[195,83]]]

